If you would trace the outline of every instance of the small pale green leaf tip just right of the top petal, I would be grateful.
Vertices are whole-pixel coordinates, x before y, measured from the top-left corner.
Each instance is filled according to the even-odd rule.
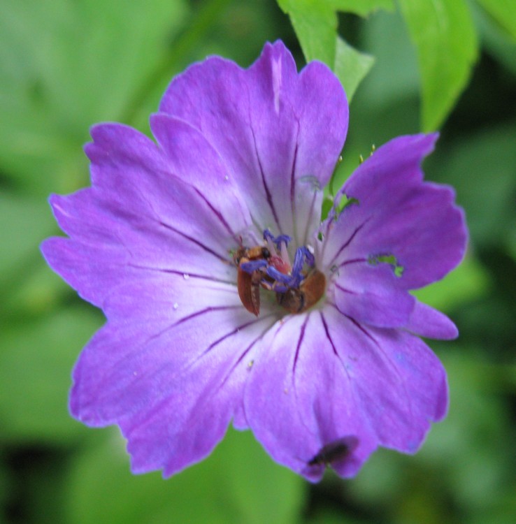
[[[371,54],[361,53],[347,45],[340,36],[337,37],[334,71],[341,80],[348,102],[351,102],[359,83],[373,67],[374,61]]]

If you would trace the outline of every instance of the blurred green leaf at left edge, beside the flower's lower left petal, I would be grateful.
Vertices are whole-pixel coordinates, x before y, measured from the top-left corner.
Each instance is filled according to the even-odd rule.
[[[10,442],[66,442],[81,425],[66,408],[71,369],[101,325],[100,314],[69,307],[36,321],[1,326],[0,419]]]

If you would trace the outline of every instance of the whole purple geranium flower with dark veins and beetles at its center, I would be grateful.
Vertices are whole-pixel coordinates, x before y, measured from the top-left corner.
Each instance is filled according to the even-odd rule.
[[[347,132],[343,88],[297,73],[280,42],[248,69],[189,67],[150,124],[99,124],[92,187],[52,196],[69,238],[50,266],[107,323],[73,371],[70,409],[117,424],[134,472],[206,457],[231,421],[310,481],[422,444],[447,410],[419,336],[457,335],[409,290],[464,254],[452,189],[423,182],[436,135],[396,138],[353,173],[321,223]]]

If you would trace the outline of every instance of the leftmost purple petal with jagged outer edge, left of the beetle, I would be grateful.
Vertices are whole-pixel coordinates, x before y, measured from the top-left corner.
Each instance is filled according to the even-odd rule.
[[[96,126],[92,135],[94,187],[50,199],[70,235],[43,244],[51,267],[99,306],[111,289],[147,272],[235,282],[229,251],[234,232],[247,227],[236,197],[224,187],[203,196],[171,173],[152,141],[126,126]]]

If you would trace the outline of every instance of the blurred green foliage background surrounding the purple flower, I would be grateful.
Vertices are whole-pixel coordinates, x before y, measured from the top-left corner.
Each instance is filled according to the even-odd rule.
[[[471,231],[464,264],[420,292],[461,332],[430,342],[450,414],[416,456],[380,450],[357,478],[312,486],[232,429],[172,479],[131,475],[116,429],[68,414],[71,367],[103,316],[38,249],[58,233],[48,194],[88,184],[89,126],[148,132],[171,77],[207,54],[248,66],[282,38],[302,66],[288,18],[272,0],[0,0],[0,524],[516,522],[516,45],[472,8],[482,52],[425,163]],[[339,28],[376,57],[342,178],[373,143],[419,131],[420,78],[399,14],[341,15]]]

